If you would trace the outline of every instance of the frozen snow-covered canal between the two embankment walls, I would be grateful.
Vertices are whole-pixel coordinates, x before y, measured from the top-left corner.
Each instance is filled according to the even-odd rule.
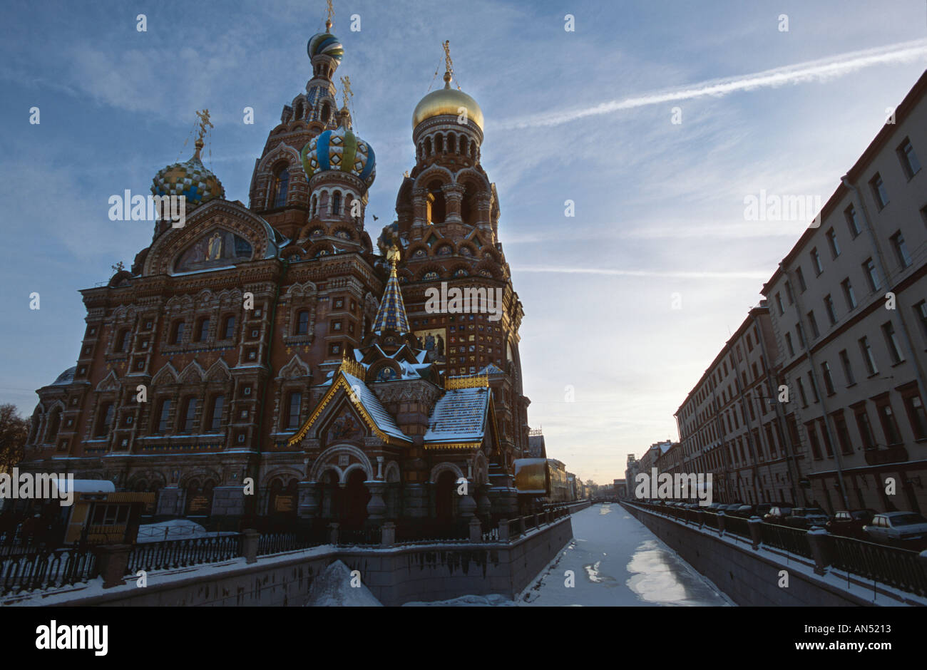
[[[732,602],[616,503],[573,514],[573,541],[520,605],[730,605]],[[573,572],[573,587],[566,586]]]

